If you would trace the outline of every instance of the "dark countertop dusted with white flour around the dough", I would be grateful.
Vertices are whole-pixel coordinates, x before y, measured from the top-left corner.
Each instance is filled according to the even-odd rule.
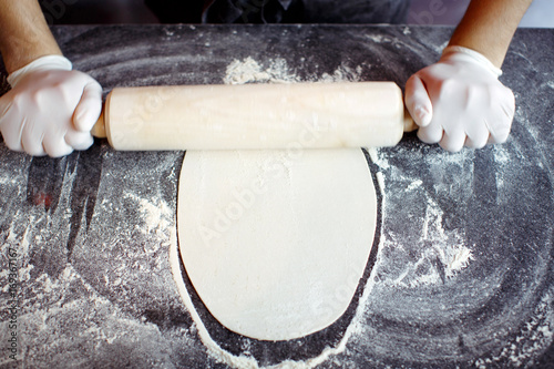
[[[223,83],[227,66],[247,57],[274,79],[390,80],[403,88],[438,59],[452,29],[114,25],[53,32],[74,66],[109,92]],[[260,365],[307,360],[348,335],[342,352],[320,368],[552,368],[553,44],[552,29],[515,34],[501,78],[517,104],[507,143],[450,154],[408,134],[372,156],[370,166],[384,183],[380,243],[343,319],[283,344],[229,335],[207,317],[216,342]],[[168,265],[183,157],[115,152],[96,141],[64,158],[32,158],[0,143],[0,334],[4,347],[17,331],[19,359],[2,350],[0,367],[225,367],[199,340]],[[10,249],[19,270],[14,329],[4,308]]]

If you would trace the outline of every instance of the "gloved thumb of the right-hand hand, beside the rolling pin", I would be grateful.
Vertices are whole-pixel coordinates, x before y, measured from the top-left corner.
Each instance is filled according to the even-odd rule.
[[[428,126],[433,117],[433,105],[423,81],[413,74],[406,82],[406,106],[419,126]]]

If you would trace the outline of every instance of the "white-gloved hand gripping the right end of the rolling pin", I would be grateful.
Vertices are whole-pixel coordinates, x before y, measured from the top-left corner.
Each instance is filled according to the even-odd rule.
[[[418,136],[451,152],[465,144],[480,148],[506,141],[515,99],[499,76],[502,71],[476,51],[449,47],[435,64],[406,84],[406,105],[420,126]]]

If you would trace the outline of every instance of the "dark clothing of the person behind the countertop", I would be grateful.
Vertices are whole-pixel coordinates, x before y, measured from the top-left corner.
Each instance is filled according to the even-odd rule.
[[[403,23],[408,0],[146,0],[162,23]]]

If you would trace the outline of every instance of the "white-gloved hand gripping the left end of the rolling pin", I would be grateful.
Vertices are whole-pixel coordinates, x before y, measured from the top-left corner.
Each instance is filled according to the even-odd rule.
[[[9,148],[57,157],[92,145],[102,86],[71,69],[68,59],[48,55],[8,76],[12,89],[0,98],[0,132]]]

